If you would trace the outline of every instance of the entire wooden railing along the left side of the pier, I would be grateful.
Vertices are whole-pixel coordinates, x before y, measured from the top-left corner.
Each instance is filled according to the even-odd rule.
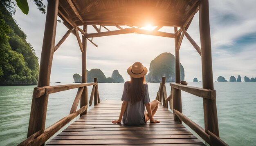
[[[44,144],[50,137],[52,137],[52,135],[58,132],[63,126],[65,126],[72,119],[77,117],[79,114],[85,112],[88,108],[88,104],[82,106],[77,111],[76,109],[83,91],[87,86],[92,86],[92,85],[93,85],[92,93],[91,93],[90,102],[89,102],[89,106],[91,106],[93,98],[94,98],[94,105],[100,102],[97,78],[94,78],[94,82],[92,83],[67,84],[67,85],[59,85],[59,86],[43,86],[43,87],[34,88],[33,98],[40,98],[43,95],[70,90],[73,88],[78,88],[78,91],[76,93],[76,97],[70,109],[69,115],[58,120],[57,122],[55,122],[54,124],[46,128],[45,130],[41,129],[40,131],[37,131],[36,133],[34,133],[33,135],[25,139],[23,142],[21,142],[18,146],[40,146]],[[33,112],[33,109],[31,109],[31,112]]]

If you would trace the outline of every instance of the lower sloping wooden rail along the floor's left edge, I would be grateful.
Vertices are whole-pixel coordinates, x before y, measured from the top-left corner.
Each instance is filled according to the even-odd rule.
[[[45,143],[47,139],[52,137],[57,131],[59,131],[63,126],[65,126],[68,122],[78,116],[80,113],[83,113],[87,109],[87,105],[83,106],[76,112],[63,117],[59,121],[55,122],[51,126],[45,129],[45,131],[36,137],[35,139],[27,138],[25,141],[19,144],[19,146],[40,146],[41,144]],[[35,137],[35,136],[33,136]]]

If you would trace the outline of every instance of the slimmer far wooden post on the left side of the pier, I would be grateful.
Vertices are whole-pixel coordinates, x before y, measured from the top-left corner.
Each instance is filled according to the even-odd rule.
[[[83,26],[83,31],[85,33],[87,33],[87,25]],[[87,49],[87,38],[83,37],[82,38],[82,42],[83,42],[83,52],[82,52],[82,83],[86,83],[87,82],[87,72],[86,72],[86,49]],[[83,89],[83,93],[81,95],[80,98],[80,108],[82,108],[83,106],[88,105],[88,88],[87,86],[84,87]],[[85,113],[87,113],[87,109],[80,114],[80,117],[82,115],[84,115]]]

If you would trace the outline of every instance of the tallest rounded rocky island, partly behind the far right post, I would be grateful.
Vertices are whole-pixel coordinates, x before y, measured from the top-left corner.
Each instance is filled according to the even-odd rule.
[[[175,82],[175,57],[171,53],[162,53],[150,62],[146,82],[161,82],[162,76],[166,77],[166,82]],[[184,80],[184,77],[184,68],[180,64],[181,80]]]

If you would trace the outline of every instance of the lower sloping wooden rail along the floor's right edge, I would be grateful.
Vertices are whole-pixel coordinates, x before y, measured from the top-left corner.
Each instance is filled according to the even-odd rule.
[[[182,120],[182,122],[184,122],[193,131],[195,131],[195,133],[197,133],[200,137],[202,137],[202,139],[204,139],[208,144],[210,144],[210,136],[204,131],[204,129],[201,126],[199,126],[198,124],[196,124],[191,119],[189,119],[179,111],[175,110],[174,108],[173,108],[173,113],[175,113],[175,115],[177,115]]]

